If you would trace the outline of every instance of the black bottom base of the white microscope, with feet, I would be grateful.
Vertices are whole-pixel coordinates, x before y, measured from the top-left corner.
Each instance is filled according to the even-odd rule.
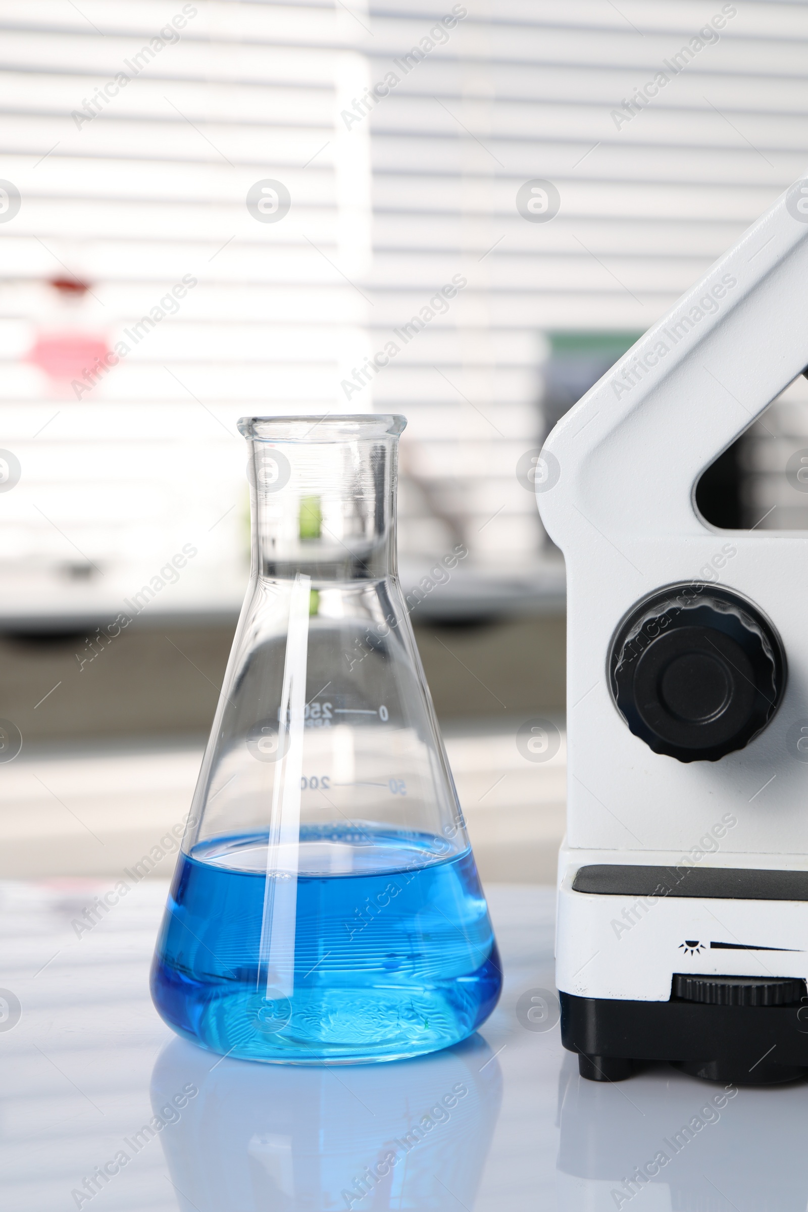
[[[621,1081],[644,1060],[761,1086],[808,1075],[808,1007],[621,1001],[561,993],[561,1042],[581,1077]],[[802,1014],[802,1017],[800,1017]]]

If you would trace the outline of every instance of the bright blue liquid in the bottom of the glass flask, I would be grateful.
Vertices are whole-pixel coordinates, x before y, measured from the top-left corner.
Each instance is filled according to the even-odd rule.
[[[428,835],[362,833],[357,845],[355,829],[300,829],[286,990],[258,964],[267,834],[180,853],[151,972],[168,1025],[213,1052],[293,1064],[394,1060],[470,1035],[502,987],[471,850],[436,857]]]

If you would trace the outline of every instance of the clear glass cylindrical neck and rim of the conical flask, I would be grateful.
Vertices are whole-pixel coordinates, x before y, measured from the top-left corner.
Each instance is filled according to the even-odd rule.
[[[253,573],[378,581],[396,571],[403,418],[246,418]]]

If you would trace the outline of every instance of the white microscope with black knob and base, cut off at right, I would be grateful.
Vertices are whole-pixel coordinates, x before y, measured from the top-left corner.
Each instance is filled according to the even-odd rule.
[[[695,502],[807,366],[803,179],[538,462],[567,565],[556,983],[594,1081],[808,1074],[808,532],[721,531]]]

